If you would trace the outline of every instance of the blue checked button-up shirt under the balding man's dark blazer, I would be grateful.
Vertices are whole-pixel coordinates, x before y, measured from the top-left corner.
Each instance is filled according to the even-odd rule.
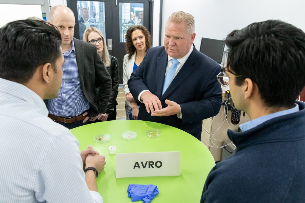
[[[49,114],[59,117],[74,117],[82,114],[90,108],[90,104],[84,96],[79,81],[74,40],[72,49],[63,54],[63,82],[58,92],[58,97],[48,100]]]

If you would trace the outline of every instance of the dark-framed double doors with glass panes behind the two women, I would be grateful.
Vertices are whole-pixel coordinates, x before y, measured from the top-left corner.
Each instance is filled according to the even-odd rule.
[[[120,84],[123,84],[126,31],[133,25],[144,25],[152,34],[153,1],[67,0],[67,6],[75,16],[75,38],[82,40],[84,30],[90,26],[94,26],[102,32],[109,54],[119,61]]]

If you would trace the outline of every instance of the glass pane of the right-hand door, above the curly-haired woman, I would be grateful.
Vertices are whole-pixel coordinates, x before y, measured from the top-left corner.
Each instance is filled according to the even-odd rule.
[[[125,42],[128,28],[144,24],[143,7],[143,3],[119,3],[120,42]]]

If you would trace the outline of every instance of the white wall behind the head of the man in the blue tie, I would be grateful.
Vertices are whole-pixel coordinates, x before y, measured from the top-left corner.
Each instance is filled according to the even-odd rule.
[[[305,31],[304,0],[163,0],[161,44],[165,22],[171,13],[185,11],[195,18],[196,38],[224,39],[228,33],[250,23],[280,19]]]

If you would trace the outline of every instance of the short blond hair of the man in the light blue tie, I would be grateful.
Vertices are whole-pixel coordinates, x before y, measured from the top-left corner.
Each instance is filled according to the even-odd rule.
[[[166,24],[172,22],[172,23],[177,23],[177,24],[185,24],[186,26],[186,31],[189,34],[192,34],[195,32],[195,19],[194,16],[191,14],[184,12],[184,11],[178,11],[174,12],[168,17]]]

